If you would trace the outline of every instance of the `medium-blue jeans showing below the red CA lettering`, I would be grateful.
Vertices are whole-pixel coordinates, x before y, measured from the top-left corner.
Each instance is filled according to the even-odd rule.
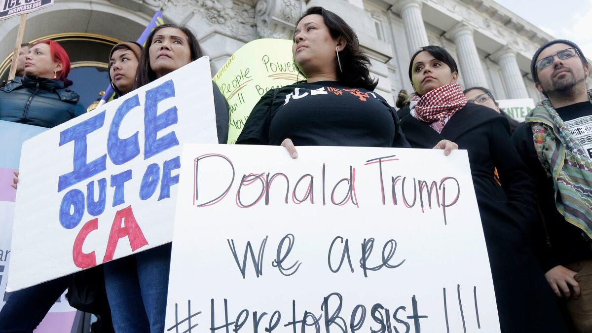
[[[117,333],[165,331],[170,246],[104,264],[105,289]]]

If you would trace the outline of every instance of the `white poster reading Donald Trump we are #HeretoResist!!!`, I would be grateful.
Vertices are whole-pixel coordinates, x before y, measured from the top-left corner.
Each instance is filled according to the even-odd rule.
[[[500,332],[466,151],[185,145],[165,329]]]

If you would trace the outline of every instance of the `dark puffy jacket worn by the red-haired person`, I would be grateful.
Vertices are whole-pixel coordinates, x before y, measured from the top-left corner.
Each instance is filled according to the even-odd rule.
[[[55,127],[86,112],[60,80],[25,76],[0,88],[0,120]]]

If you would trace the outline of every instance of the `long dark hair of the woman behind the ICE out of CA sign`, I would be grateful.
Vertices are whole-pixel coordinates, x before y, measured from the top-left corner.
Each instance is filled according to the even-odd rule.
[[[150,67],[150,45],[152,45],[152,39],[154,38],[154,35],[157,33],[157,31],[163,28],[177,28],[187,35],[189,50],[191,51],[191,61],[199,59],[203,56],[200,43],[197,41],[197,37],[195,37],[195,34],[191,28],[187,27],[186,25],[176,24],[159,25],[155,30],[152,30],[152,33],[150,33],[148,39],[146,39],[146,44],[144,45],[144,50],[142,51],[142,56],[136,72],[136,82],[134,83],[134,89],[149,84],[156,79],[156,73],[152,71],[152,68]]]

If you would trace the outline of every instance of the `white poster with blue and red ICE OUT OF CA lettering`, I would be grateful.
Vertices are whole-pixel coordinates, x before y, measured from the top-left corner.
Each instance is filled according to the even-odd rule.
[[[170,242],[187,142],[218,142],[208,57],[27,140],[7,288]]]

